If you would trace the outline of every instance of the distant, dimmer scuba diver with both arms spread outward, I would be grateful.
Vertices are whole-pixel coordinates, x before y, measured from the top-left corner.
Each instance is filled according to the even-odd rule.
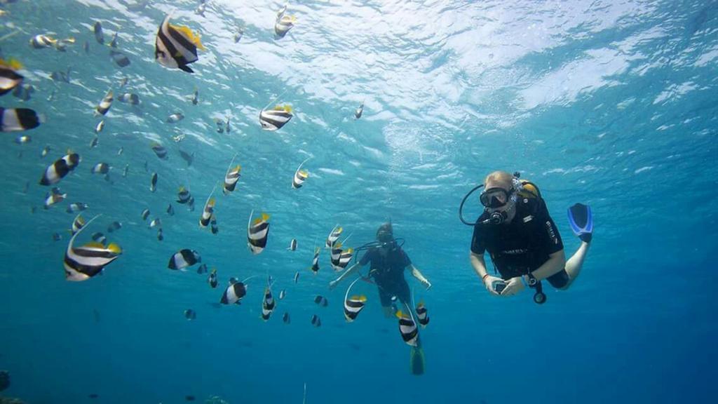
[[[361,267],[371,262],[369,277],[376,283],[379,291],[379,299],[384,316],[393,318],[396,311],[394,300],[398,299],[401,303],[406,304],[407,308],[411,308],[411,293],[409,293],[409,284],[404,279],[404,270],[411,270],[414,275],[426,289],[432,287],[429,280],[411,264],[409,255],[401,249],[401,245],[396,242],[393,236],[391,223],[382,224],[376,231],[376,242],[370,243],[365,247],[367,252],[363,255],[359,262],[352,265],[336,280],[329,283],[329,288],[334,289],[338,283],[350,277],[353,273],[361,269]],[[400,307],[401,308],[401,307]]]

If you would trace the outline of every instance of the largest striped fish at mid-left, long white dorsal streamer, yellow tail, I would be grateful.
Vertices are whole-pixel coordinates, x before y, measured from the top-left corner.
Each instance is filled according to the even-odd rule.
[[[88,280],[90,277],[100,273],[106,265],[116,260],[117,257],[122,254],[122,249],[115,243],[110,243],[105,247],[100,242],[89,242],[82,247],[74,247],[75,238],[95,219],[97,219],[97,216],[90,219],[82,229],[79,229],[73,234],[70,243],[67,244],[65,260],[63,262],[65,266],[65,280],[75,282]]]

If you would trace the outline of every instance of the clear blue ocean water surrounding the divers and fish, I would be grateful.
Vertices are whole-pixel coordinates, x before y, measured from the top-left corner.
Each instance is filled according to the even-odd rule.
[[[287,14],[296,26],[281,39],[279,1],[208,0],[204,16],[198,5],[1,5],[2,55],[24,65],[24,83],[36,90],[27,101],[7,94],[1,106],[32,108],[46,121],[24,132],[27,144],[2,136],[0,369],[11,385],[0,394],[27,403],[714,399],[718,2],[294,1]],[[154,60],[169,13],[207,48],[190,65],[194,74]],[[106,44],[118,32],[131,65],[113,63],[95,41],[95,22]],[[35,50],[29,40],[38,34],[75,43]],[[67,68],[69,83],[52,80]],[[93,110],[109,88],[137,93],[141,104],[116,99],[90,148],[101,120]],[[273,103],[291,104],[294,118],[266,132],[258,114]],[[168,124],[176,111],[185,119]],[[218,133],[215,119],[228,117],[231,132]],[[153,142],[168,160],[154,155]],[[45,145],[51,151],[40,157]],[[82,162],[59,184],[67,200],[46,210],[50,187],[38,180],[67,149]],[[192,165],[180,150],[195,153]],[[242,177],[230,195],[215,193],[220,231],[211,234],[197,221],[234,155]],[[309,178],[292,189],[307,158]],[[90,173],[98,162],[111,165],[111,181]],[[548,288],[543,306],[526,290],[490,295],[468,261],[472,229],[457,208],[499,169],[538,184],[567,255],[579,245],[567,207],[583,202],[594,212],[581,276],[570,290]],[[195,211],[174,202],[180,185]],[[103,231],[123,249],[103,275],[81,283],[65,281],[62,267],[73,202],[89,205],[85,219],[102,215],[83,242]],[[144,208],[162,220],[162,242],[141,219]],[[251,211],[271,215],[258,255],[246,246]],[[475,196],[465,214],[480,214]],[[355,285],[368,303],[345,323],[349,282],[329,290],[338,273],[326,249],[320,272],[308,269],[314,245],[336,224],[350,235],[345,245],[358,247],[387,220],[433,285],[424,290],[406,275],[431,318],[420,330],[421,376],[409,373],[409,346],[396,319],[383,318],[376,286]],[[123,226],[108,234],[112,221]],[[218,288],[196,266],[167,269],[183,248],[218,270]],[[275,298],[283,289],[286,298],[263,322],[268,274]],[[218,307],[229,277],[253,275],[241,306]],[[315,295],[329,306],[314,304]]]

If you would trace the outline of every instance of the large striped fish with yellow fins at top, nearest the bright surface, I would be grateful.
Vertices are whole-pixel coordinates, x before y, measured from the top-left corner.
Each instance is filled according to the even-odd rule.
[[[188,27],[178,27],[169,24],[169,15],[164,17],[157,30],[157,39],[154,42],[154,58],[167,68],[178,68],[187,73],[194,73],[188,66],[195,63],[197,48],[205,50],[200,37]]]

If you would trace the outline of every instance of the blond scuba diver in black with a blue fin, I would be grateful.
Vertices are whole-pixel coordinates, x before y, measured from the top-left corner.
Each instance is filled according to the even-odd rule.
[[[483,185],[480,201],[485,211],[475,223],[468,223],[461,214],[467,194],[460,207],[460,218],[474,226],[470,262],[492,295],[516,295],[524,288],[535,290],[533,300],[544,303],[541,280],[554,288],[566,290],[581,271],[593,234],[589,206],[577,203],[569,208],[569,222],[581,239],[577,252],[566,260],[564,244],[541,192],[536,185],[519,180],[518,173],[490,173]],[[488,251],[500,277],[489,275],[484,261]]]

